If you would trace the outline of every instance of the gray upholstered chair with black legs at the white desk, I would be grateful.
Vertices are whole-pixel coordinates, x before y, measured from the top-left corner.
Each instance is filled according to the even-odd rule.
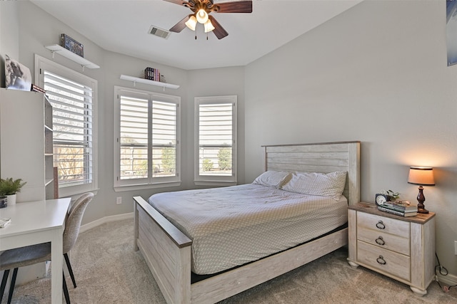
[[[89,192],[81,195],[69,209],[69,215],[65,221],[64,230],[64,258],[66,266],[69,269],[71,281],[76,288],[76,281],[74,280],[73,270],[69,260],[68,253],[73,248],[78,239],[79,228],[81,227],[81,220],[84,215],[89,202],[94,198],[94,194]],[[51,261],[51,243],[39,243],[32,246],[21,248],[14,248],[1,253],[0,256],[0,271],[5,271],[0,285],[0,303],[6,287],[6,280],[8,279],[9,271],[14,268],[13,276],[11,277],[11,284],[9,287],[8,304],[11,303],[13,297],[14,284],[16,283],[16,276],[19,267],[29,266],[36,263]],[[66,287],[65,276],[63,277],[63,288],[66,303],[70,303],[69,291]]]

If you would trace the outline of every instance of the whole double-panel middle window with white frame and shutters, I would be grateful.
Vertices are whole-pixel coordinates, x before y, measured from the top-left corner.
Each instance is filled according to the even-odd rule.
[[[115,187],[178,185],[181,98],[121,87],[114,90]]]

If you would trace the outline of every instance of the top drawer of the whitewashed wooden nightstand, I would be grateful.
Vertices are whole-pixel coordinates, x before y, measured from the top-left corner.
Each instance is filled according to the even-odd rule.
[[[373,229],[409,239],[409,223],[375,214],[357,212],[357,229]]]

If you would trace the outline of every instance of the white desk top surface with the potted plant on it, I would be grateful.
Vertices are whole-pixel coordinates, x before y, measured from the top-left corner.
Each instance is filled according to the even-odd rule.
[[[0,209],[0,219],[11,223],[0,228],[0,239],[62,227],[71,198],[16,203]]]

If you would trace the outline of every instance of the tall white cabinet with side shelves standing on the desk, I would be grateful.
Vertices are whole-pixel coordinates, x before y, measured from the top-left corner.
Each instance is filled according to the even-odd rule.
[[[43,93],[0,89],[0,176],[27,182],[18,202],[54,198],[52,136]]]

